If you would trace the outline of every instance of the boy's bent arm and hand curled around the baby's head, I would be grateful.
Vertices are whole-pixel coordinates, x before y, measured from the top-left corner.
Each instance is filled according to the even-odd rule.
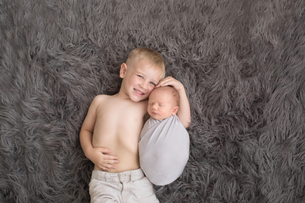
[[[158,83],[156,88],[167,85],[173,86],[179,93],[180,104],[179,104],[179,110],[177,112],[177,116],[179,117],[179,120],[183,124],[183,126],[185,128],[188,128],[188,126],[191,123],[191,109],[188,103],[188,97],[186,95],[184,86],[182,85],[181,82],[174,79],[173,77],[166,77]]]

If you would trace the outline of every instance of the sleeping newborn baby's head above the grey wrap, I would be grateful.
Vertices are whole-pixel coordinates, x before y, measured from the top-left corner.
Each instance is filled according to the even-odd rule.
[[[180,96],[172,86],[161,86],[149,95],[148,114],[156,120],[163,120],[176,115],[179,109]]]

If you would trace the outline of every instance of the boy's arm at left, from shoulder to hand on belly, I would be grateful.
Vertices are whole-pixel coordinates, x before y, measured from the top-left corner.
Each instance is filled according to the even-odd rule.
[[[93,99],[89,107],[88,114],[84,120],[83,125],[81,126],[79,138],[85,156],[101,169],[109,170],[110,168],[116,168],[116,166],[111,164],[118,163],[118,160],[116,160],[117,157],[103,154],[111,152],[110,149],[92,146],[92,135],[96,121],[96,109],[101,99],[101,95],[96,96]]]

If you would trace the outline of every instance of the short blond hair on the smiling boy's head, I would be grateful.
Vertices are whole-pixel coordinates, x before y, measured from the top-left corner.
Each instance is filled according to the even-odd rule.
[[[139,47],[130,52],[128,55],[127,61],[136,60],[140,61],[142,59],[148,60],[153,65],[156,65],[157,68],[161,69],[161,79],[165,76],[165,63],[162,56],[155,50],[149,49],[146,47]]]

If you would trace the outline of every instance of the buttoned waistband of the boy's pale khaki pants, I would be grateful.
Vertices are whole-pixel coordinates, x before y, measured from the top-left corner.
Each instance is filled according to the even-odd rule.
[[[145,175],[142,169],[129,170],[121,173],[108,173],[105,171],[94,170],[92,171],[91,180],[97,179],[106,182],[120,183],[121,179],[135,181],[143,178],[144,176]]]

